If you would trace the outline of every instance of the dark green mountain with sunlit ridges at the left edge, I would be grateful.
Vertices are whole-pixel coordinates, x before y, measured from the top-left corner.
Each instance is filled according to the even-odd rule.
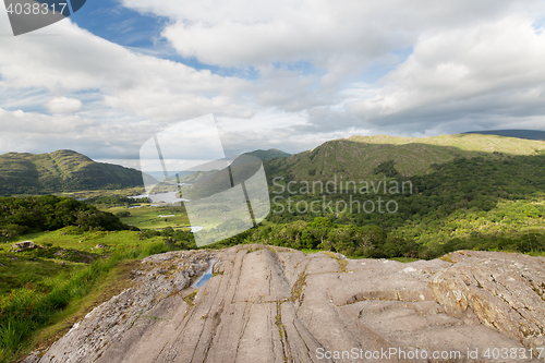
[[[96,162],[72,150],[0,155],[0,195],[142,186],[136,169]]]

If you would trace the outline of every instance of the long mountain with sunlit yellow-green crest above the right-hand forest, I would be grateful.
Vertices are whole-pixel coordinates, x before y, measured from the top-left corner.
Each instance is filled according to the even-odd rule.
[[[267,179],[284,177],[288,180],[350,180],[377,174],[410,177],[425,174],[434,164],[444,164],[460,157],[482,156],[485,159],[507,158],[513,155],[537,155],[545,152],[545,143],[497,135],[457,134],[435,137],[398,137],[387,135],[352,136],[326,142],[320,146],[283,159],[265,161]]]

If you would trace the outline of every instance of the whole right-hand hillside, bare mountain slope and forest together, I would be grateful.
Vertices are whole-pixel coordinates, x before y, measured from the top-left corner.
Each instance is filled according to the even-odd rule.
[[[474,135],[460,136],[463,137],[479,141]],[[425,143],[396,145],[341,140],[283,160],[266,161],[271,201],[280,195],[276,199],[278,205],[272,202],[268,220],[291,222],[327,217],[343,225],[379,226],[421,242],[540,227],[545,217],[545,205],[540,202],[545,195],[545,155],[541,150],[545,143],[509,138],[505,138],[505,143],[512,143],[506,145],[508,150],[513,145],[525,145],[519,153],[528,155]],[[308,193],[292,195],[286,189],[289,182],[291,191],[298,192],[305,181],[310,185],[315,181],[323,184],[335,181],[337,185],[355,181],[360,187],[365,181],[395,180],[410,181],[412,190],[396,194],[383,187],[367,189],[370,193],[365,194],[351,189],[351,195],[346,192],[329,195],[311,189]],[[295,201],[291,211],[288,210],[288,196]],[[376,206],[378,196],[383,201],[395,201],[395,213],[376,209],[373,213],[362,209],[338,213],[326,208],[312,213],[303,208],[322,197],[332,201],[334,206],[337,202],[343,206],[342,202],[353,201],[359,201],[360,205],[372,201]],[[295,208],[298,202],[303,213]],[[275,208],[281,213],[275,214]]]

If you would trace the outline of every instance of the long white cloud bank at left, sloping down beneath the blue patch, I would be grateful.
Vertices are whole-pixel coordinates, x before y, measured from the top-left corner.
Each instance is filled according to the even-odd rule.
[[[104,106],[154,120],[240,112],[231,95],[245,86],[242,80],[135,53],[69,20],[50,27],[61,35],[0,37],[0,87],[41,88],[65,98],[73,98],[74,92],[98,90]],[[59,102],[47,106],[60,110]]]

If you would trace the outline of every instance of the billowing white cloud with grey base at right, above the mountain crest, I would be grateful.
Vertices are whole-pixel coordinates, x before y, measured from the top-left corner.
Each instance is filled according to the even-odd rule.
[[[512,16],[421,36],[375,95],[349,109],[370,124],[540,114],[545,126],[545,34]]]

